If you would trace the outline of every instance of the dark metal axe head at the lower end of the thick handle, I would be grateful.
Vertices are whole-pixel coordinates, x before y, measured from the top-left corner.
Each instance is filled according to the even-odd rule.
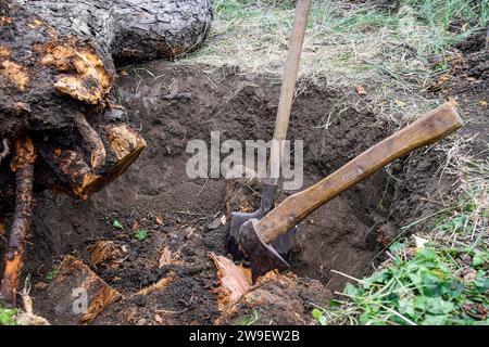
[[[289,264],[272,246],[260,239],[255,224],[258,219],[246,221],[239,228],[239,248],[251,262],[251,275],[253,282],[271,270],[286,271]]]

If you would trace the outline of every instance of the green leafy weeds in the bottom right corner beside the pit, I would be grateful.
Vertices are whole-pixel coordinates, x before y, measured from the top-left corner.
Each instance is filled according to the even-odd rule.
[[[335,300],[313,317],[323,324],[489,324],[489,252],[396,244],[391,255],[389,267],[347,284],[341,296],[350,301]]]

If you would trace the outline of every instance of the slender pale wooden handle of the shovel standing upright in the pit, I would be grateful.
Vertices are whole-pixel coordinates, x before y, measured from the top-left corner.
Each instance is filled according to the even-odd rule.
[[[292,108],[293,94],[296,91],[297,74],[301,60],[302,44],[304,42],[305,28],[308,26],[309,13],[312,0],[299,0],[296,8],[292,35],[289,40],[284,81],[281,83],[280,100],[278,103],[277,118],[275,120],[274,141],[272,142],[269,174],[267,183],[276,185],[280,175],[280,158],[283,140],[286,139],[289,126],[290,110]]]

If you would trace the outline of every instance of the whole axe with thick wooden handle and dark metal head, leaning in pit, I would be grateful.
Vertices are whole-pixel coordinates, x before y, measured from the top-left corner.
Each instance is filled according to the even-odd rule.
[[[252,218],[239,230],[231,231],[238,235],[240,250],[251,262],[253,281],[273,269],[284,271],[289,268],[272,244],[312,211],[393,160],[448,137],[462,124],[455,107],[446,103],[369,147],[316,184],[290,195],[260,220]]]

